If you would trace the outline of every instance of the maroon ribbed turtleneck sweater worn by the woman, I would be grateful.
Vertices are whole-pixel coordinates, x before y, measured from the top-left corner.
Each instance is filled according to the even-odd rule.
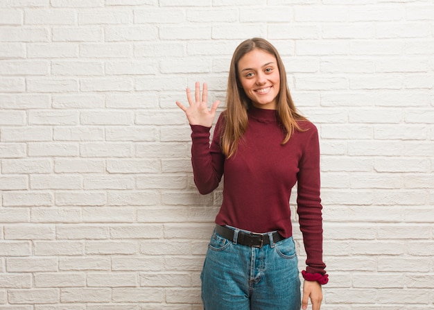
[[[324,274],[322,261],[322,205],[320,200],[320,149],[313,123],[300,121],[282,145],[282,130],[275,110],[250,107],[248,129],[236,155],[225,158],[220,148],[223,117],[210,129],[193,125],[191,160],[196,187],[202,194],[214,191],[225,173],[223,203],[216,224],[251,232],[277,230],[293,235],[289,199],[297,183],[297,214],[307,254],[308,273]]]

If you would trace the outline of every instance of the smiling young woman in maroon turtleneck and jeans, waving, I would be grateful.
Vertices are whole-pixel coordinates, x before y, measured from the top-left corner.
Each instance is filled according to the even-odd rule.
[[[207,105],[207,85],[189,107],[177,101],[192,129],[196,187],[214,191],[223,176],[223,203],[202,270],[205,310],[319,310],[328,276],[322,261],[322,205],[318,131],[290,97],[279,53],[261,38],[234,51],[227,108],[210,129],[219,101]],[[306,250],[303,297],[290,221],[297,183],[297,214]]]

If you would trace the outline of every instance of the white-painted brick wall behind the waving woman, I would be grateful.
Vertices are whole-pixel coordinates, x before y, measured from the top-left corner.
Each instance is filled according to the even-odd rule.
[[[324,310],[434,308],[434,1],[0,0],[0,310],[198,310],[176,100],[266,37],[320,130]],[[293,198],[293,202],[295,198]],[[300,232],[295,227],[304,263]]]

